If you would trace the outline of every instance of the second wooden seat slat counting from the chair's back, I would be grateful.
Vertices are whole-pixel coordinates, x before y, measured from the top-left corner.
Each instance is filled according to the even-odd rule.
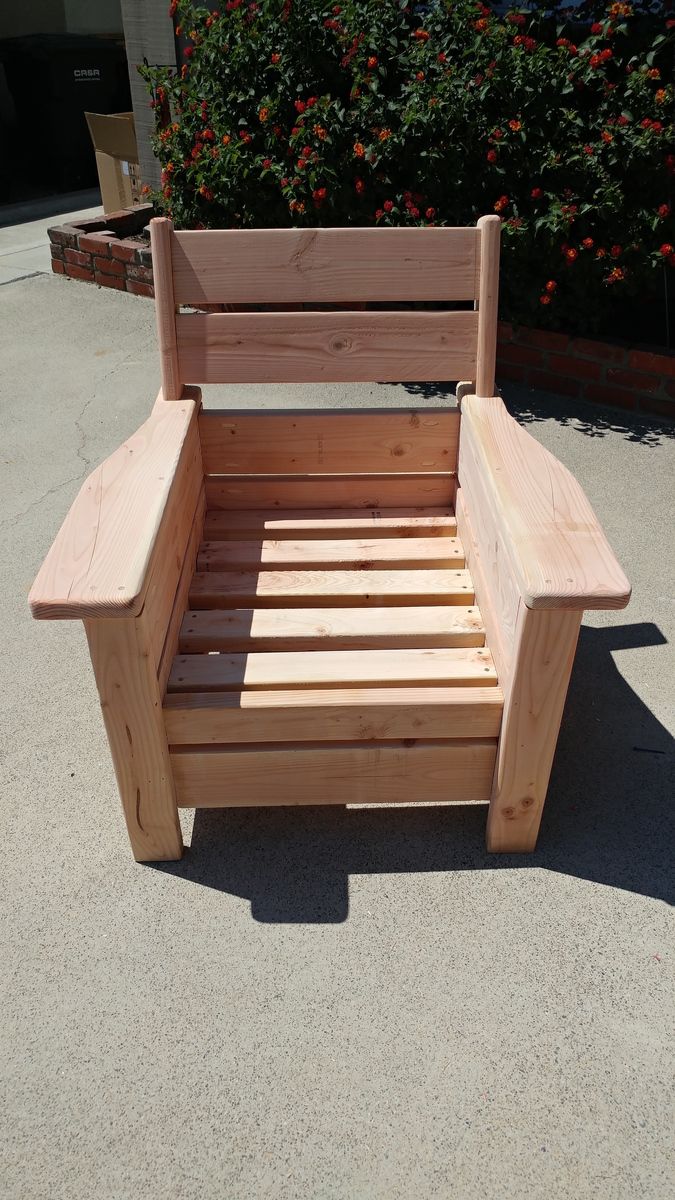
[[[241,571],[258,568],[312,570],[424,569],[464,566],[458,538],[387,538],[323,541],[204,541],[197,557],[199,571]]]

